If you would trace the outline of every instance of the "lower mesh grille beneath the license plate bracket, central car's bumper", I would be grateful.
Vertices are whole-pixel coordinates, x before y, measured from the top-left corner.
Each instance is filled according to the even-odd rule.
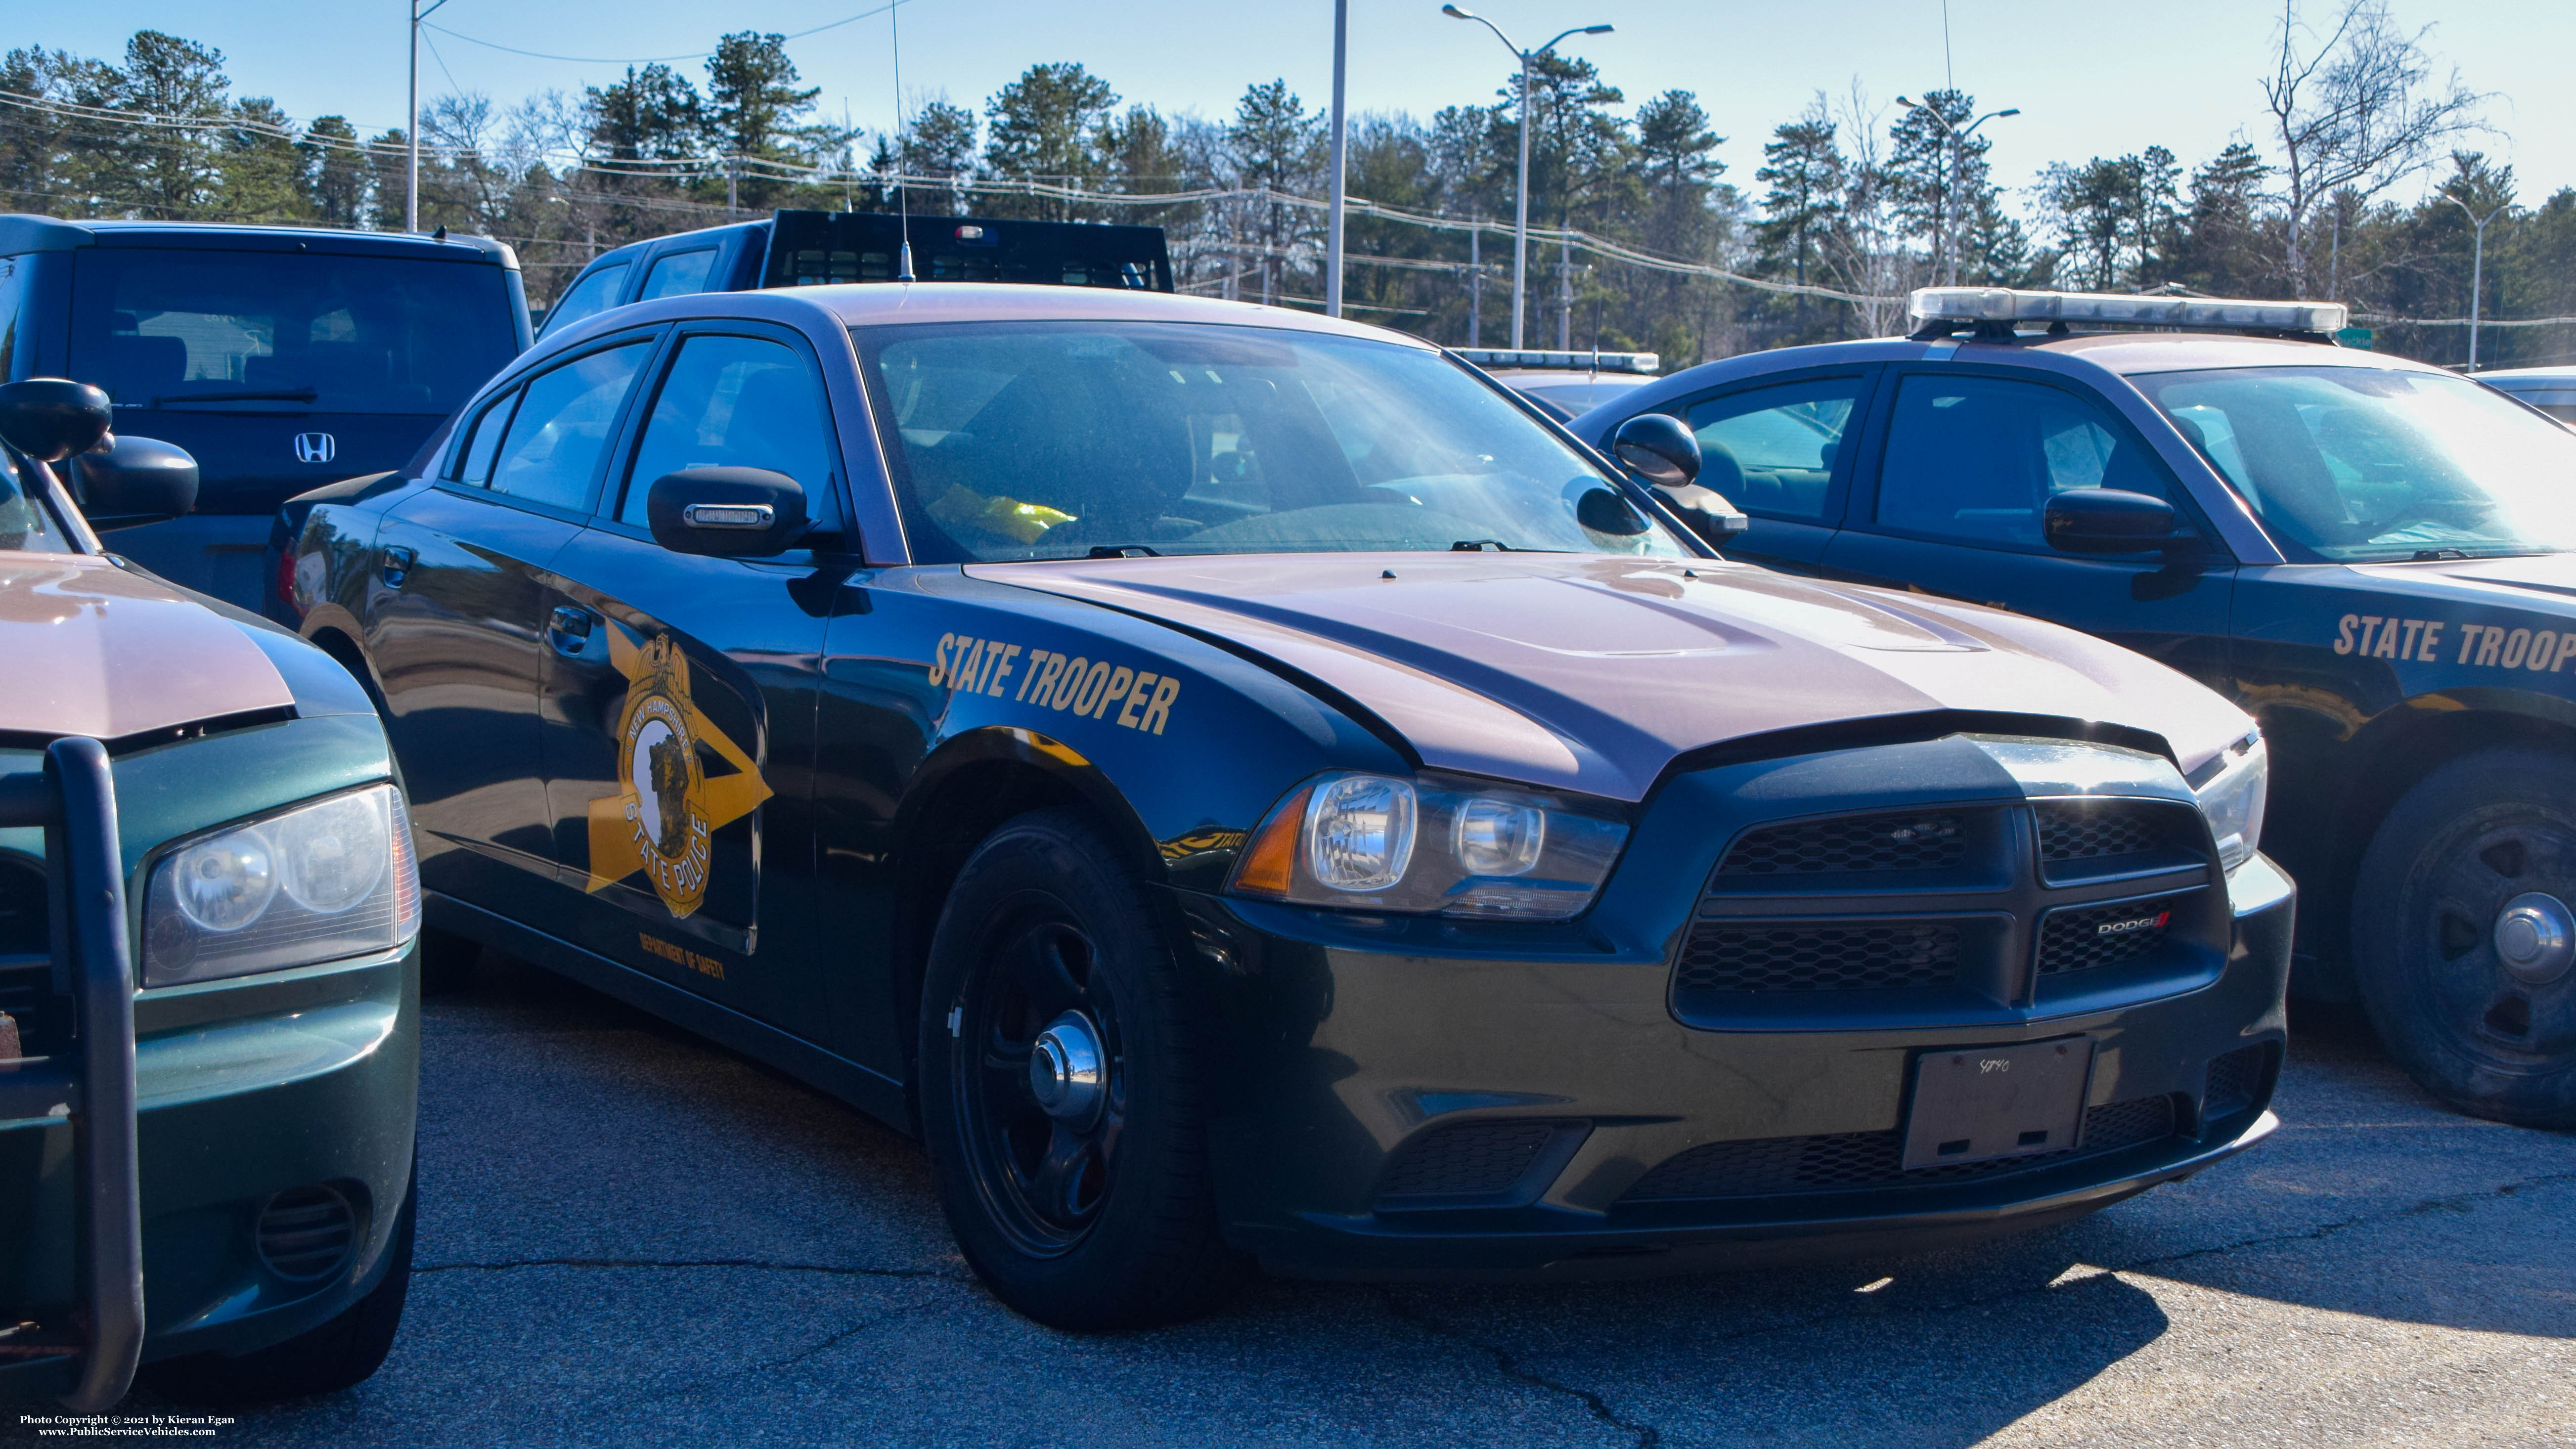
[[[1826,1132],[1816,1138],[1708,1143],[1664,1158],[1620,1202],[1698,1202],[1976,1181],[2063,1166],[2172,1135],[2174,1099],[2138,1096],[2084,1112],[2084,1138],[2074,1148],[1914,1171],[1904,1166],[1904,1132]]]

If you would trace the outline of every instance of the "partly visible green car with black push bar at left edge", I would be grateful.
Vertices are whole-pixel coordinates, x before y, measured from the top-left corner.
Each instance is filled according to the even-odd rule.
[[[420,875],[376,710],[98,530],[196,466],[0,386],[0,1395],[348,1387],[412,1271]]]

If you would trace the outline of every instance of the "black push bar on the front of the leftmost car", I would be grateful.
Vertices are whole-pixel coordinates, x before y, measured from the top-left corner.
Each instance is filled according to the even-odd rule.
[[[144,1233],[134,1166],[134,960],[116,782],[95,739],[57,739],[44,775],[0,777],[0,826],[41,826],[57,872],[54,975],[80,1006],[72,1166],[82,1271],[72,1413],[126,1398],[144,1351]]]

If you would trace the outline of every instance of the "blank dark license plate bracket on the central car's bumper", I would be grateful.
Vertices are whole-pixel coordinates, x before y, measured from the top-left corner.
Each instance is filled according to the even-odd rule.
[[[2050,1037],[2009,1048],[1940,1048],[1914,1058],[1906,1171],[2074,1148],[2092,1055],[2092,1037]]]

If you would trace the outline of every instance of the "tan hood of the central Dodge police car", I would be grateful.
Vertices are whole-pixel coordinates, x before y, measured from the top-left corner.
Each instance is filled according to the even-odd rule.
[[[1332,553],[974,564],[1260,651],[1425,764],[1641,800],[1682,752],[1924,710],[2164,736],[2192,772],[2249,721],[2172,669],[2048,623],[1726,561]]]

